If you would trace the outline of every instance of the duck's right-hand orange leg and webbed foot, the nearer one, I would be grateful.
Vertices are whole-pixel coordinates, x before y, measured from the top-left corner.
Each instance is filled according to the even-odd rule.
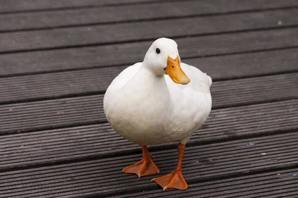
[[[181,162],[182,162],[182,156],[184,153],[185,145],[182,145],[179,143],[177,149],[178,149],[178,164],[175,170],[167,175],[164,175],[162,177],[157,177],[151,180],[159,184],[163,188],[163,191],[168,188],[176,188],[179,190],[187,189],[187,184],[182,176],[182,171],[181,171]]]

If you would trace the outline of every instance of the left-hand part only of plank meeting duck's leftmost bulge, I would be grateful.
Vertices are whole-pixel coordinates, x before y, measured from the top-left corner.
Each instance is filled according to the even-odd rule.
[[[10,133],[106,122],[103,95],[2,105],[0,131]]]

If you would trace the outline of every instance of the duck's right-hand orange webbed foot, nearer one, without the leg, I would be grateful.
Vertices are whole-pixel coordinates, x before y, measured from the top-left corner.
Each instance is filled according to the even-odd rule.
[[[159,184],[163,188],[163,191],[168,188],[175,188],[179,190],[187,189],[187,184],[182,176],[181,171],[174,170],[173,172],[167,175],[154,178],[151,181],[154,181],[157,184]]]

